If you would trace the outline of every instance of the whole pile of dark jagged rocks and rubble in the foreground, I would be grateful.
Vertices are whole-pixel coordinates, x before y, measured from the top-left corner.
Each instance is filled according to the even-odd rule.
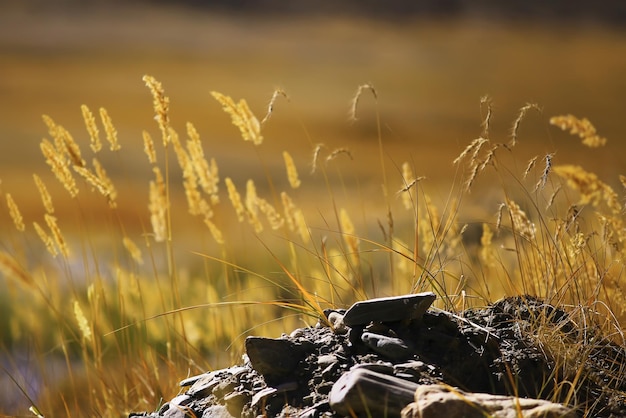
[[[565,312],[518,297],[453,314],[430,308],[434,300],[429,292],[372,299],[278,339],[248,337],[241,365],[185,379],[184,392],[158,412],[130,417],[578,416],[534,399],[553,397],[557,382],[529,329],[541,314],[572,332]],[[609,393],[601,383],[622,373],[626,355],[606,347],[594,361],[607,369],[595,370],[598,382],[585,380],[576,407],[626,416],[616,395],[626,385]]]

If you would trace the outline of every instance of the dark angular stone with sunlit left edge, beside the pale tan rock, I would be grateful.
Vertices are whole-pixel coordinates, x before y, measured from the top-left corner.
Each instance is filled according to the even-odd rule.
[[[399,416],[413,401],[418,385],[397,377],[358,368],[333,385],[330,407],[342,416]]]

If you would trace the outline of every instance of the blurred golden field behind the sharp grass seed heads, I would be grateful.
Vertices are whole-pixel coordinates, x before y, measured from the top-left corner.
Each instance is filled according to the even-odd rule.
[[[395,279],[386,276],[381,259],[365,259],[381,249],[375,242],[386,243],[385,234],[391,229],[388,210],[401,205],[395,192],[406,186],[404,162],[410,163],[416,176],[426,177],[420,187],[432,197],[433,205],[444,208],[442,218],[452,219],[452,214],[446,215],[446,210],[453,210],[451,188],[464,175],[464,169],[452,161],[483,134],[487,108],[480,101],[486,94],[493,98],[489,134],[494,143],[510,139],[512,122],[527,102],[543,109],[530,112],[521,124],[512,162],[504,154],[511,171],[521,176],[530,158],[554,153],[554,164],[582,165],[621,191],[618,175],[626,173],[622,157],[625,51],[623,30],[584,22],[258,19],[181,9],[0,15],[0,192],[10,193],[30,228],[33,221],[41,222],[43,213],[32,181],[32,174],[39,174],[74,249],[71,258],[50,259],[34,233],[27,237],[16,232],[7,211],[0,212],[1,250],[20,261],[38,289],[33,292],[28,285],[3,278],[2,304],[7,312],[2,322],[3,367],[50,416],[147,410],[156,408],[160,397],[171,397],[176,380],[187,369],[193,374],[236,361],[245,332],[276,336],[304,323],[294,316],[275,324],[274,319],[284,315],[278,307],[260,313],[256,307],[227,306],[157,318],[104,335],[133,321],[199,303],[297,299],[244,268],[286,286],[288,275],[277,260],[299,261],[288,268],[302,275],[308,291],[326,297],[341,292],[319,277],[345,279],[342,268],[355,269],[359,264],[371,282],[350,283],[352,292],[343,293],[344,300],[334,300],[342,306],[354,297],[411,290],[410,283],[377,284],[376,278]],[[265,233],[257,239],[229,216],[230,203],[224,194],[216,216],[228,245],[215,245],[202,220],[186,213],[178,180],[170,186],[174,248],[145,239],[150,235],[148,182],[153,173],[143,152],[142,131],[149,131],[156,142],[159,133],[144,74],[163,83],[171,99],[172,127],[182,138],[185,123],[193,122],[206,156],[219,164],[220,177],[232,178],[240,192],[247,179],[254,179],[264,196],[271,196],[274,189],[288,189],[281,158],[288,150],[303,182],[290,193],[310,222],[315,248],[326,248],[323,236],[330,237],[327,249],[331,244],[337,247],[338,252],[330,256],[336,271],[326,266],[324,272],[323,263],[315,265],[324,259],[323,252],[316,259],[293,237]],[[375,87],[377,98],[365,91],[358,120],[352,122],[350,102],[357,87],[367,82]],[[210,95],[217,90],[235,100],[245,98],[261,118],[277,87],[284,89],[289,101],[281,97],[276,101],[259,147],[241,140]],[[49,137],[42,114],[63,125],[88,149],[82,104],[94,112],[107,109],[123,147],[123,152],[98,155],[119,192],[114,211],[88,187],[78,199],[70,199],[41,155],[39,144]],[[590,152],[578,138],[548,124],[550,116],[567,113],[593,121],[610,146]],[[348,148],[352,158],[339,156],[324,166],[324,175],[320,171],[311,175],[313,151],[319,143],[325,144],[323,155]],[[170,155],[170,160],[172,178],[180,177],[175,157]],[[478,178],[464,197],[463,210],[454,214],[457,229],[448,232],[458,232],[470,222],[478,232],[469,244],[479,243],[481,223],[493,226],[503,187],[497,179]],[[515,189],[507,197],[527,198],[531,193],[524,190]],[[350,234],[345,225],[338,225],[339,208],[350,213],[355,234],[374,241],[363,250],[363,261],[347,255],[351,244],[342,240]],[[417,251],[410,244],[417,220],[410,215],[395,219],[398,243],[409,242],[403,244],[402,251],[407,252]],[[432,213],[427,219],[435,223]],[[135,264],[120,248],[124,237],[141,243],[144,265]],[[303,260],[305,255],[312,255],[314,261]],[[427,258],[426,267],[441,271],[448,262],[421,256]],[[338,266],[341,263],[345,266]],[[469,276],[470,271],[465,273]],[[360,280],[358,272],[352,273],[354,280]],[[402,274],[410,276],[410,268]],[[473,285],[491,287],[494,296],[506,288],[502,283],[478,282]],[[87,296],[90,285],[96,287]],[[461,287],[444,289],[454,292]],[[581,299],[591,297],[598,294]],[[70,298],[81,302],[90,326],[100,330],[93,345],[87,344],[84,334],[81,338],[84,329],[76,324],[74,316],[80,315],[69,306]],[[309,302],[307,297],[301,299]],[[78,390],[83,379],[88,390]],[[42,382],[59,388],[42,390]],[[10,404],[8,399],[0,402],[10,405],[0,413],[23,414],[28,399],[6,376],[2,385],[12,395]]]

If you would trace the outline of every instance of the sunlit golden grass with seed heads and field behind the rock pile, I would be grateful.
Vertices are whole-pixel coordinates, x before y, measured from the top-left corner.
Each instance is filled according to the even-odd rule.
[[[154,410],[250,333],[424,290],[541,296],[623,342],[622,34],[174,13],[143,24],[195,41],[120,46],[94,19],[54,54],[0,29],[11,413]]]

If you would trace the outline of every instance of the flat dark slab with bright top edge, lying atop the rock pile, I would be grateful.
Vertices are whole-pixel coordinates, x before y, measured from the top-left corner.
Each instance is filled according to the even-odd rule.
[[[349,327],[372,321],[394,322],[419,319],[435,301],[433,292],[376,298],[357,302],[346,311],[343,323]]]

